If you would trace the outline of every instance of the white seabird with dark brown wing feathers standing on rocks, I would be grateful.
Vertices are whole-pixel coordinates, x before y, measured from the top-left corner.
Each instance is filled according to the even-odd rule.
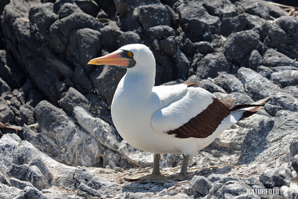
[[[190,156],[208,146],[226,128],[261,109],[269,98],[231,107],[194,83],[154,86],[155,59],[144,44],[125,45],[88,64],[127,68],[111,105],[113,123],[133,147],[154,153],[153,171],[160,177],[160,154],[182,153],[180,175]]]

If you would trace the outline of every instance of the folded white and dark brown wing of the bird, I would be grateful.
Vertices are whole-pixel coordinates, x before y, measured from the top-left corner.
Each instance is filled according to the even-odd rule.
[[[208,137],[229,115],[233,100],[219,100],[194,85],[187,85],[186,89],[182,96],[152,115],[151,125],[157,132],[174,134],[178,138]]]

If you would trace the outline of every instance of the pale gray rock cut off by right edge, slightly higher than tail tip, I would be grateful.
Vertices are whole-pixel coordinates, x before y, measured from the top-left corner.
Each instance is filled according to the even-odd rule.
[[[271,74],[271,80],[282,88],[296,86],[298,84],[298,71],[285,70]]]

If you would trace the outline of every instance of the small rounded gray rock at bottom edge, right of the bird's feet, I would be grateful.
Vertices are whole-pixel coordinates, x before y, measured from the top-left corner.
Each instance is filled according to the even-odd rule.
[[[194,176],[189,182],[196,197],[206,196],[212,187],[209,180],[203,176]]]

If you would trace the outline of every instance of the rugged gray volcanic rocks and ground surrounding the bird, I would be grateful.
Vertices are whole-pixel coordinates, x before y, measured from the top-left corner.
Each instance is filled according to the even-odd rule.
[[[297,13],[262,0],[1,0],[0,199],[297,199]],[[127,181],[153,157],[111,120],[125,69],[87,62],[129,43],[153,51],[155,85],[271,99],[198,152],[187,179]],[[162,155],[162,173],[181,162]],[[247,194],[257,188],[278,195]]]

